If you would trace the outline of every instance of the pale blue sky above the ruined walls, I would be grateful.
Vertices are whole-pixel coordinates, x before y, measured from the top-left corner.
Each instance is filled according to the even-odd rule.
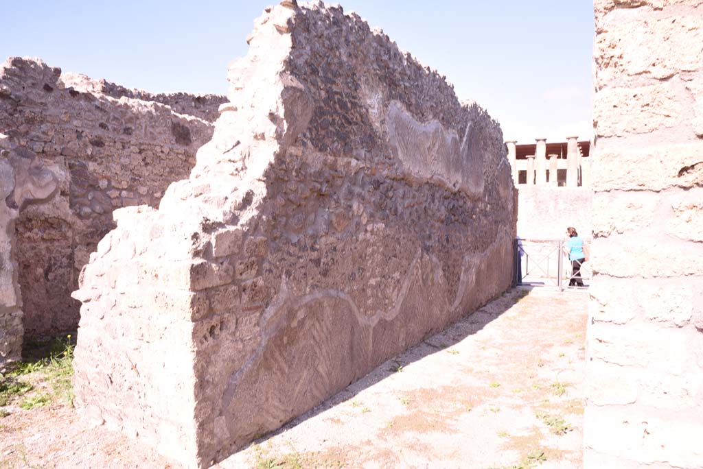
[[[39,57],[153,92],[226,92],[259,0],[0,0],[0,60]],[[591,138],[593,2],[345,0],[486,108],[506,140]]]

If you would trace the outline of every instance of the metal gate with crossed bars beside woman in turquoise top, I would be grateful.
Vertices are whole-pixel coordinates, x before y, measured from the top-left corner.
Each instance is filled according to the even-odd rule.
[[[564,253],[563,239],[515,239],[515,285],[541,286],[559,291],[588,289],[590,268],[588,263],[576,265]],[[583,286],[569,282],[580,279]]]

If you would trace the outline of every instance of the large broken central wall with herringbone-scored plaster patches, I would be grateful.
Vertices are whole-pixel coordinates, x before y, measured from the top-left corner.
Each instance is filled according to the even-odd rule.
[[[498,124],[358,15],[267,8],[228,79],[74,293],[79,411],[200,467],[505,291],[515,236]]]

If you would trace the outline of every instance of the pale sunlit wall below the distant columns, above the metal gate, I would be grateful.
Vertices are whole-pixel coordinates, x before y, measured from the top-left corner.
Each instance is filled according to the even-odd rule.
[[[591,236],[591,187],[527,187],[518,190],[517,235],[522,239],[562,239],[567,226]]]

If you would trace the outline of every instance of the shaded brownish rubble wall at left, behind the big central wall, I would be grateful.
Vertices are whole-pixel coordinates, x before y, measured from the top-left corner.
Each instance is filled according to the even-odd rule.
[[[0,67],[0,132],[17,151],[36,154],[58,180],[53,198],[27,204],[15,220],[29,337],[75,329],[79,303],[70,292],[89,253],[115,226],[112,210],[156,206],[212,136],[207,120],[160,103],[113,98],[86,77],[80,83],[84,88],[66,86],[60,69],[37,59],[10,58]],[[213,108],[205,114],[217,112],[217,100],[206,100]]]

